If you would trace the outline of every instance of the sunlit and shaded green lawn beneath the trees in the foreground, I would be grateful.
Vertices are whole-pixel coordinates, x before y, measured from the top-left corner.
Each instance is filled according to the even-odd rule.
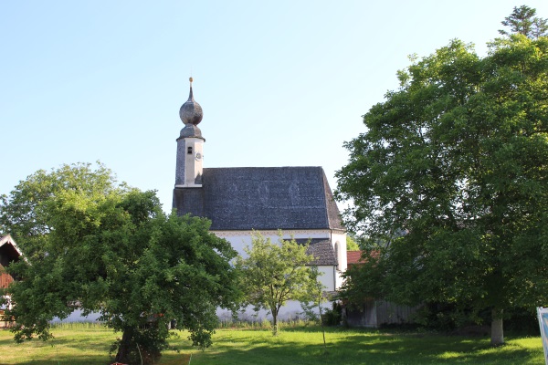
[[[50,342],[16,344],[0,330],[0,364],[108,364],[111,342],[120,334],[79,325],[55,328]],[[278,337],[268,329],[219,329],[211,348],[190,346],[182,332],[160,364],[543,364],[540,337],[507,336],[507,344],[490,348],[488,338],[428,333],[327,328],[327,349],[320,328],[286,328]]]

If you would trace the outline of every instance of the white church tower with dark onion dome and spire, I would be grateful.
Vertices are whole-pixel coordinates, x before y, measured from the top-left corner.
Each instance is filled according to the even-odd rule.
[[[188,100],[179,110],[184,128],[177,139],[177,162],[175,167],[175,188],[202,187],[204,142],[202,130],[198,124],[204,113],[200,104],[195,102],[192,92],[192,78],[190,80],[190,94]]]

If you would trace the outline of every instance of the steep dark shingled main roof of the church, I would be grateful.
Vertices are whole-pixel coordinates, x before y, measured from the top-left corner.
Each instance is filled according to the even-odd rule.
[[[218,231],[344,229],[321,167],[204,169],[203,187],[174,189],[174,208]]]

